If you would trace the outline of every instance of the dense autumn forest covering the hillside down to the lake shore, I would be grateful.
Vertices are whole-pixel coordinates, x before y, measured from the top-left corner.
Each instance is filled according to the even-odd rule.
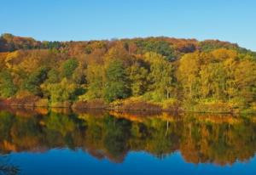
[[[0,37],[1,104],[256,111],[256,53],[171,37],[39,42]]]

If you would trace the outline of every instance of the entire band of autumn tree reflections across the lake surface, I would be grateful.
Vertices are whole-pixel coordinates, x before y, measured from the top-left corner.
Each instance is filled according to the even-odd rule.
[[[34,114],[33,114],[34,115]],[[115,115],[115,114],[114,114]],[[186,161],[219,165],[247,161],[256,148],[256,123],[234,116],[124,117],[61,114],[15,116],[0,112],[0,150],[43,151],[67,146],[82,148],[99,159],[123,161],[130,150],[159,158],[180,150]],[[242,149],[241,149],[242,148]]]

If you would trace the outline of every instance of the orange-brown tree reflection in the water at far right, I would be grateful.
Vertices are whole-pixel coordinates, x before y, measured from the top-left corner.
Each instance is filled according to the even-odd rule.
[[[185,123],[188,127],[180,145],[184,158],[194,163],[214,162],[220,165],[246,161],[254,155],[256,148],[256,125],[243,119],[240,121],[236,124],[196,120]]]

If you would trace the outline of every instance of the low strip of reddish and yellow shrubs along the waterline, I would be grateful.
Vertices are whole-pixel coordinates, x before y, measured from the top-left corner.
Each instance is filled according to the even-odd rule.
[[[204,104],[182,104],[177,100],[166,100],[164,102],[152,102],[142,99],[120,99],[112,103],[106,103],[102,99],[87,101],[50,103],[48,99],[38,97],[26,97],[26,99],[0,99],[2,106],[17,107],[42,107],[42,108],[69,108],[73,110],[115,110],[115,111],[172,111],[172,112],[198,112],[198,113],[225,113],[225,114],[256,114],[255,107],[249,109],[237,109],[226,103],[204,103]]]

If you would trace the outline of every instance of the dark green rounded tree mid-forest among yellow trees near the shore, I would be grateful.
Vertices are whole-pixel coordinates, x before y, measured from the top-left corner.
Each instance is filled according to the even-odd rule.
[[[129,96],[128,76],[120,60],[110,61],[106,68],[106,82],[104,99],[111,102],[115,99],[124,99]]]

